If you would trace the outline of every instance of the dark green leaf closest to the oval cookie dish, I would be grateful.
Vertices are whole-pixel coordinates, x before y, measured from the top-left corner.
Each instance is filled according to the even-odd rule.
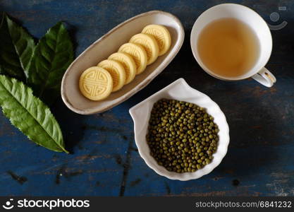
[[[60,95],[63,73],[73,61],[73,44],[63,23],[50,28],[39,40],[32,56],[28,83],[44,102]]]

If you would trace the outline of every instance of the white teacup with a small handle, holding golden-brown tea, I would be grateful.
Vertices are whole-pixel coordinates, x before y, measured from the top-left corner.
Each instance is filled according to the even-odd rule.
[[[246,23],[250,26],[250,28],[252,28],[252,30],[255,32],[255,35],[257,35],[257,38],[259,40],[259,59],[257,59],[255,65],[252,66],[252,69],[250,69],[250,71],[247,71],[242,76],[220,76],[219,74],[216,74],[213,71],[209,70],[199,57],[199,53],[197,50],[197,42],[201,31],[209,23],[220,18],[236,18],[238,20],[241,20],[243,23]],[[221,80],[226,81],[238,81],[252,77],[257,82],[267,87],[273,86],[276,82],[275,76],[271,72],[269,72],[269,70],[264,68],[265,64],[267,64],[267,61],[269,61],[269,57],[271,56],[271,32],[264,19],[261,16],[259,16],[259,14],[257,14],[255,11],[246,6],[242,6],[240,4],[219,4],[213,6],[212,8],[209,8],[207,11],[204,11],[204,13],[202,13],[197,18],[193,25],[190,36],[190,44],[193,55],[197,60],[198,64],[200,64],[204,71],[214,76],[215,78],[219,78]]]

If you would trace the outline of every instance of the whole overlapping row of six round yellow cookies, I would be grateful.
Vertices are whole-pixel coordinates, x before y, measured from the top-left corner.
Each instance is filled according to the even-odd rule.
[[[90,100],[104,100],[145,71],[171,47],[171,35],[163,25],[147,25],[108,59],[90,67],[80,76],[80,91]]]

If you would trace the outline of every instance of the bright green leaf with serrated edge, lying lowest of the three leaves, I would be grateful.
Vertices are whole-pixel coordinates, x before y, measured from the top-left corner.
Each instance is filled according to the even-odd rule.
[[[66,152],[59,124],[47,105],[15,78],[0,75],[0,105],[11,124],[51,151]]]

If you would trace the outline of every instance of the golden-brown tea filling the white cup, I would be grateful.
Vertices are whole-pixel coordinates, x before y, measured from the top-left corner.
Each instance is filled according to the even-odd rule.
[[[209,23],[198,38],[203,64],[223,77],[243,76],[259,58],[259,40],[249,25],[235,18]]]

